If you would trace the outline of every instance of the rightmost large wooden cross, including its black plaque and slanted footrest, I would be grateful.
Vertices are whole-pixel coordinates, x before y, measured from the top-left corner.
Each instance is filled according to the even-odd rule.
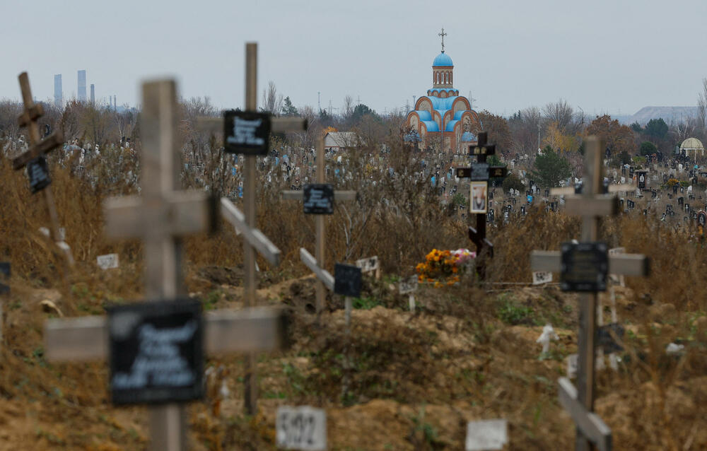
[[[598,447],[612,449],[612,431],[593,413],[595,399],[595,335],[597,333],[597,291],[606,289],[607,274],[645,276],[648,259],[641,254],[607,255],[607,246],[597,243],[600,216],[619,211],[615,197],[600,194],[603,191],[601,151],[603,146],[596,136],[587,139],[584,185],[582,194],[568,197],[566,210],[582,216],[582,242],[563,245],[563,252],[533,251],[530,262],[533,271],[561,273],[565,291],[583,291],[580,294],[578,388],[566,377],[559,379],[559,399],[577,425],[575,450],[586,451]],[[603,281],[603,282],[602,282]]]

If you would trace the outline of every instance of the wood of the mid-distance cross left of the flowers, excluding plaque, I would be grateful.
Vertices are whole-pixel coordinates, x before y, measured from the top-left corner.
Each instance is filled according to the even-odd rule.
[[[325,155],[324,155],[324,137],[322,136],[318,141],[317,141],[317,183],[324,184],[326,183],[326,160],[325,160]],[[284,191],[282,192],[282,198],[283,199],[288,199],[288,200],[304,200],[305,193],[304,191]],[[334,200],[335,201],[353,201],[356,199],[356,192],[355,191],[334,191]],[[306,264],[312,271],[315,273],[317,276],[317,284],[316,284],[316,291],[317,291],[317,324],[320,322],[320,317],[322,315],[322,311],[324,310],[325,307],[325,302],[327,299],[327,288],[329,290],[334,290],[334,278],[332,277],[331,274],[329,274],[327,271],[324,271],[324,267],[326,264],[326,259],[325,259],[325,221],[324,221],[324,215],[322,214],[317,214],[317,219],[315,222],[315,258],[313,259],[312,262],[312,257],[305,248],[300,249],[300,259],[304,264]],[[312,264],[313,263],[313,264]],[[318,270],[315,270],[315,267],[318,268]],[[324,274],[329,274],[329,278],[325,276]],[[330,282],[330,283],[329,283]]]

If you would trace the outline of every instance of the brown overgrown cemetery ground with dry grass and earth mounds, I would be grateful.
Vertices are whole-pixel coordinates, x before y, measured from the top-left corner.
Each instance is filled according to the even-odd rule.
[[[59,219],[76,259],[64,278],[62,254],[37,231],[46,225],[42,204],[23,174],[0,160],[0,249],[13,269],[3,308],[0,450],[146,445],[146,409],[110,406],[105,363],[44,358],[47,318],[103,315],[111,303],[142,299],[141,245],[107,240],[100,210],[105,197],[134,187],[107,182],[110,168],[99,169],[105,182],[52,165]],[[260,189],[258,226],[282,250],[283,263],[271,269],[258,260],[258,297],[261,305],[291,310],[291,344],[257,357],[255,416],[243,414],[245,356],[207,360],[208,397],[188,409],[194,449],[275,449],[277,406],[303,404],[326,409],[330,450],[459,450],[467,421],[489,418],[508,418],[509,450],[572,448],[574,427],[557,402],[556,380],[566,373],[564,358],[576,352],[577,296],[554,285],[530,286],[529,256],[576,238],[579,219],[531,208],[522,221],[499,221],[489,228],[496,250],[486,283],[467,274],[457,286],[421,285],[411,313],[397,283],[433,248],[472,247],[465,220],[431,202],[411,216],[337,206],[348,208],[349,218],[327,218],[327,268],[370,255],[382,265],[382,278],[366,277],[354,300],[347,367],[344,300],[329,294],[317,327],[314,279],[298,258],[299,247],[312,247],[314,223],[276,192]],[[648,255],[652,276],[628,278],[626,288],[617,288],[626,351],[617,372],[597,373],[597,414],[612,428],[617,450],[705,449],[707,251],[688,229],[640,215],[607,219],[600,235],[609,247]],[[214,235],[185,244],[190,295],[204,310],[242,307],[243,245],[233,228],[223,222]],[[101,271],[95,258],[111,252],[119,254],[119,268]],[[608,318],[608,295],[602,305]],[[541,356],[535,340],[547,322],[559,341]],[[671,342],[684,351],[667,355]]]

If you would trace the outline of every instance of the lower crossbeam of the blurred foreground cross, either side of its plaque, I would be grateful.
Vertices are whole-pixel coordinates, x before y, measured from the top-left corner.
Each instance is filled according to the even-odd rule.
[[[281,308],[204,312],[204,348],[207,354],[246,353],[283,348],[288,315]],[[108,356],[107,318],[89,316],[45,322],[48,361],[90,361]]]

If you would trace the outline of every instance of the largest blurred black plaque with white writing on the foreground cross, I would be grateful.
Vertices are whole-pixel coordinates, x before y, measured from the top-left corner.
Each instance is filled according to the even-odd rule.
[[[180,299],[108,307],[115,405],[204,397],[201,303]]]

